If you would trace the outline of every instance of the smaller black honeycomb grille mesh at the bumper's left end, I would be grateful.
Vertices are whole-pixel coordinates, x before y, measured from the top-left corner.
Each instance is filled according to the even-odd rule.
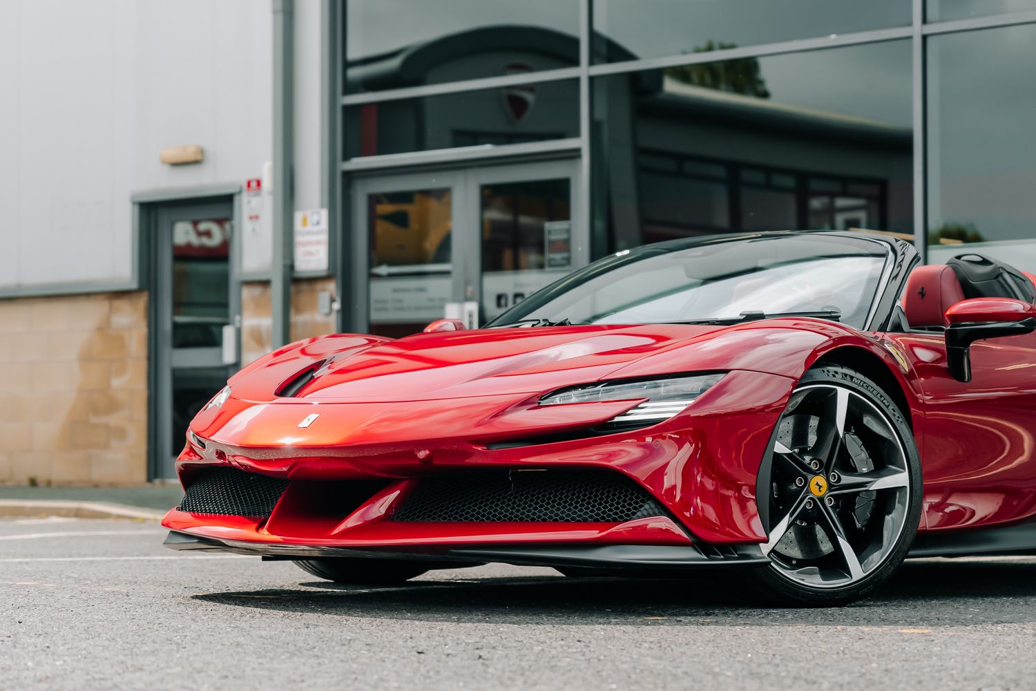
[[[237,468],[202,470],[188,487],[179,510],[214,516],[267,518],[288,487],[287,480]]]

